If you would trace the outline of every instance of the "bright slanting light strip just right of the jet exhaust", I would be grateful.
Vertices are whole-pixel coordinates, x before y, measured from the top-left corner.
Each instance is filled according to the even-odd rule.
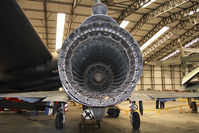
[[[140,49],[141,51],[148,47],[153,41],[155,41],[158,37],[160,37],[164,32],[166,32],[169,27],[164,26],[160,31],[158,31],[152,38],[150,38],[146,43],[144,43]]]

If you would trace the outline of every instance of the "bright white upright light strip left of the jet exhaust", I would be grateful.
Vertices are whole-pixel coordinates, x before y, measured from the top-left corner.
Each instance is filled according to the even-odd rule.
[[[57,13],[56,50],[62,46],[65,17],[66,14]]]

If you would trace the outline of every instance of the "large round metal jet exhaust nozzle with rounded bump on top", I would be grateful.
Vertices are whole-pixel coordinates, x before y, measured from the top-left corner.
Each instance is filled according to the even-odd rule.
[[[59,75],[67,94],[92,107],[129,97],[142,73],[142,55],[130,33],[120,28],[102,3],[65,40]]]

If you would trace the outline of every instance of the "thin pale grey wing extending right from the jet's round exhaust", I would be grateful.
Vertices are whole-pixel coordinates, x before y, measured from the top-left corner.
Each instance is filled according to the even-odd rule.
[[[196,98],[199,93],[196,92],[174,92],[174,91],[135,91],[129,99],[131,101],[151,101],[155,99],[171,98]]]

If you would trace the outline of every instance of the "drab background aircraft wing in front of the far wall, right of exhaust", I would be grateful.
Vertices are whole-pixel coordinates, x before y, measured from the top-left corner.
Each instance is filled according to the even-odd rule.
[[[155,66],[179,65],[179,64],[181,64],[181,59],[180,59],[180,57],[176,57],[176,58],[171,58],[171,59],[168,59],[165,61],[148,62],[146,64],[155,65]]]

